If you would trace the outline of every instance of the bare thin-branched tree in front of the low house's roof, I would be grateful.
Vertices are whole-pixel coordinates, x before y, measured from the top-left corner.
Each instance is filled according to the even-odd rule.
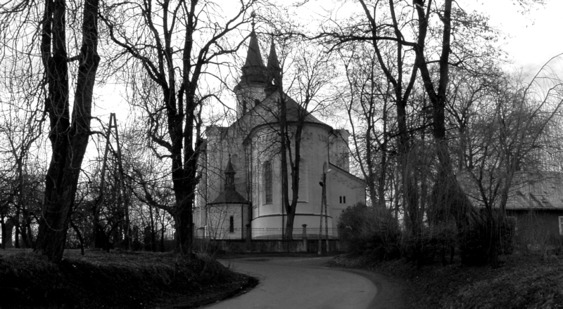
[[[467,92],[456,87],[462,105],[456,119],[464,119],[455,139],[462,154],[461,181],[485,210],[492,267],[498,267],[506,205],[514,188],[553,177],[548,156],[559,144],[553,133],[560,130],[563,84],[547,67],[529,83],[500,75],[486,79],[486,87],[474,89],[476,83],[470,83]]]

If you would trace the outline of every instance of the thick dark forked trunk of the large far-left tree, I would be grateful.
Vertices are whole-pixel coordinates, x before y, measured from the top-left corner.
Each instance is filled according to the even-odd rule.
[[[51,123],[49,139],[52,155],[46,175],[35,251],[53,262],[63,258],[80,166],[90,134],[92,94],[100,60],[97,54],[98,6],[98,0],[84,2],[83,41],[71,122],[65,37],[66,4],[65,0],[46,0],[45,4],[41,50],[48,84],[49,96],[45,105]]]

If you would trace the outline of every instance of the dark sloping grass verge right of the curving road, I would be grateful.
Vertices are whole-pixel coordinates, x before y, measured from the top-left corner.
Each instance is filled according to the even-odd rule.
[[[454,263],[417,269],[404,260],[374,262],[337,256],[332,265],[363,268],[405,279],[410,308],[563,308],[563,259],[513,254],[500,268]]]

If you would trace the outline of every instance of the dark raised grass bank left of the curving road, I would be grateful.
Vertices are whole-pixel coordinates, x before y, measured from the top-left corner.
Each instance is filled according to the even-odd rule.
[[[257,283],[203,255],[71,250],[54,264],[0,250],[1,308],[195,308]]]

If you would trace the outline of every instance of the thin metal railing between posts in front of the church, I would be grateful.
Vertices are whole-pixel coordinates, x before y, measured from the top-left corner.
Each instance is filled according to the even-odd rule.
[[[251,239],[285,239],[284,228],[251,228]],[[322,228],[321,239],[339,239],[338,228]],[[247,231],[242,228],[198,228],[194,237],[198,239],[245,239]],[[319,239],[319,228],[293,228],[293,239]]]

